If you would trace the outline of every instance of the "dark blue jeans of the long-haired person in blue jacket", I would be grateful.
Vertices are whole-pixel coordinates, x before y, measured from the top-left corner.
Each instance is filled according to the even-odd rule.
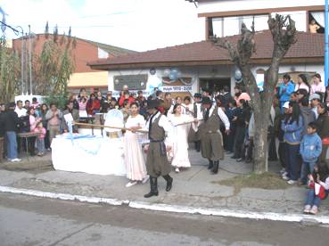
[[[285,144],[285,161],[286,161],[286,171],[290,179],[296,181],[299,177],[299,159],[298,154],[300,152],[300,144]]]

